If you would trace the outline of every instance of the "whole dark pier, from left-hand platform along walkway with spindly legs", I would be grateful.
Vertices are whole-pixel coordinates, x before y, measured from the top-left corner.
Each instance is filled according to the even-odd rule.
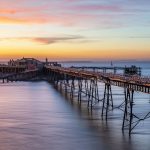
[[[57,62],[44,63],[43,65],[39,63],[39,66],[29,68],[19,65],[0,65],[0,80],[5,83],[10,81],[30,81],[37,78],[44,79],[54,84],[60,91],[64,91],[66,95],[69,94],[71,100],[76,98],[81,103],[83,98],[86,99],[87,109],[91,111],[97,104],[100,104],[101,117],[106,121],[109,119],[108,116],[111,111],[120,109],[123,111],[122,131],[128,129],[129,135],[141,121],[150,118],[150,111],[140,118],[135,115],[133,110],[134,103],[136,103],[136,99],[134,99],[135,92],[150,94],[149,77],[142,77],[137,74],[117,74],[116,72],[88,70],[92,67],[88,67],[88,69],[80,67],[67,68],[62,67]],[[106,67],[104,68],[106,70]],[[103,67],[98,69],[103,69]],[[102,95],[99,93],[100,83],[105,85]],[[124,100],[117,107],[114,107],[113,86],[124,89]],[[120,93],[117,94],[119,95]]]

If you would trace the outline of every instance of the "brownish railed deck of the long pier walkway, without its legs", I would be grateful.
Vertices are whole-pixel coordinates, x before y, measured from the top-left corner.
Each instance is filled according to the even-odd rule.
[[[150,78],[140,77],[138,75],[123,75],[104,72],[93,72],[85,70],[77,70],[72,68],[63,68],[57,66],[46,66],[47,71],[59,74],[65,74],[71,77],[79,77],[87,80],[97,80],[111,85],[120,87],[129,87],[134,91],[150,94]]]

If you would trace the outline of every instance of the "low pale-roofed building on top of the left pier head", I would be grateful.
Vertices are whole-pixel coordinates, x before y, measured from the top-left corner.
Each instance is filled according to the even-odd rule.
[[[28,70],[36,69],[36,68],[42,68],[43,62],[35,59],[35,58],[22,58],[17,60],[10,60],[8,62],[9,65],[12,66],[25,66]]]

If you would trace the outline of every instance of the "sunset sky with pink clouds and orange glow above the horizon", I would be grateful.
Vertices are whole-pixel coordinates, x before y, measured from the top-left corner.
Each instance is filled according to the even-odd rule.
[[[0,59],[149,60],[150,0],[0,0]]]

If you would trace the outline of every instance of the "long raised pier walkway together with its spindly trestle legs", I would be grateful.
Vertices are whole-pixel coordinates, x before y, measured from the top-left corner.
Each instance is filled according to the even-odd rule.
[[[139,118],[133,112],[134,92],[150,94],[150,78],[148,77],[125,76],[58,66],[46,66],[45,73],[48,80],[60,90],[64,89],[66,94],[69,93],[71,99],[77,96],[78,101],[81,102],[82,97],[86,97],[88,108],[92,109],[96,103],[101,102],[101,116],[106,120],[108,112],[114,108],[112,86],[124,88],[124,102],[118,108],[124,112],[122,130],[128,128],[129,134],[140,121],[150,118],[150,112],[143,118]],[[102,99],[99,95],[99,82],[105,84]]]

